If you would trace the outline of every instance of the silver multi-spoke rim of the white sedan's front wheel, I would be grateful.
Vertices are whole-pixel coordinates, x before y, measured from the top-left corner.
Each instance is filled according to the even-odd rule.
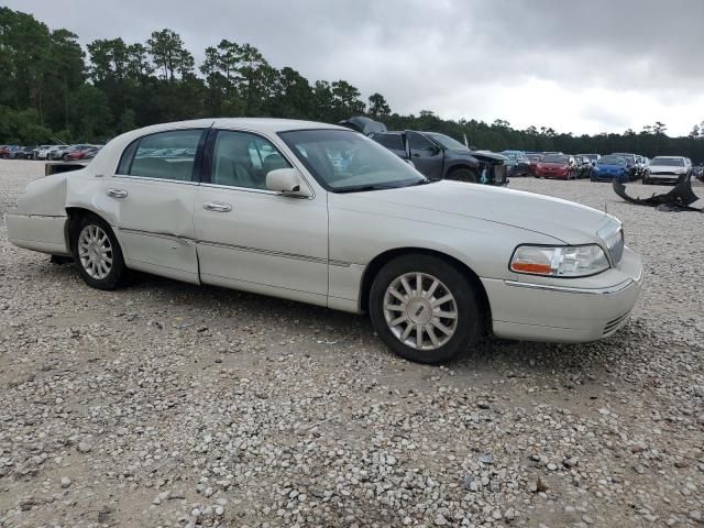
[[[450,289],[427,273],[406,273],[384,295],[384,319],[396,339],[411,349],[436,350],[458,328],[458,305]]]

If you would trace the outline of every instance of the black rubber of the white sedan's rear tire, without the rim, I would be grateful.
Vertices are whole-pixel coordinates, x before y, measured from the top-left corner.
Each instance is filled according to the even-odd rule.
[[[81,260],[81,255],[79,254],[79,240],[84,230],[88,228],[98,228],[107,237],[110,243],[110,251],[106,253],[111,258],[111,265],[109,273],[105,276],[92,276],[88,271],[88,267],[85,262]],[[74,262],[76,263],[76,267],[78,268],[78,273],[84,278],[86,284],[90,287],[97,289],[114,289],[120,286],[124,279],[127,278],[127,267],[124,266],[124,258],[122,256],[122,249],[118,243],[118,239],[116,238],[112,229],[108,222],[102,220],[100,217],[95,215],[85,215],[81,216],[72,224],[70,228],[70,251],[74,256]]]

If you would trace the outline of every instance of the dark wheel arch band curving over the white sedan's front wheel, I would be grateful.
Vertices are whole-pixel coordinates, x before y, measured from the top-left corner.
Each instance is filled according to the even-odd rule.
[[[392,260],[404,256],[404,255],[430,255],[441,258],[454,266],[462,275],[464,275],[472,286],[474,286],[476,293],[480,296],[480,301],[482,304],[482,314],[484,316],[484,320],[482,323],[485,329],[490,328],[492,321],[492,306],[488,301],[488,296],[486,295],[486,290],[484,289],[484,285],[482,280],[480,280],[479,275],[468,266],[465,263],[455,258],[452,255],[443,253],[437,250],[430,250],[427,248],[396,248],[393,250],[387,250],[383,253],[376,255],[364,268],[364,274],[362,275],[362,280],[360,283],[360,310],[369,311],[369,301],[370,301],[370,292],[372,289],[372,283],[374,278],[378,274],[378,272]]]

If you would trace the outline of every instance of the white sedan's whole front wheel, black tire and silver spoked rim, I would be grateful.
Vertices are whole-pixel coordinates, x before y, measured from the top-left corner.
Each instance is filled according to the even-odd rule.
[[[430,255],[388,262],[370,293],[376,333],[392,351],[418,363],[443,363],[473,345],[482,330],[481,306],[470,280]]]

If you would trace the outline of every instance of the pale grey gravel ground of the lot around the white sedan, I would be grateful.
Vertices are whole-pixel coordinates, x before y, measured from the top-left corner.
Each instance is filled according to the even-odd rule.
[[[41,174],[0,162],[0,212]],[[647,275],[616,336],[416,365],[362,317],[151,276],[90,289],[3,220],[0,526],[702,526],[704,217],[512,187],[624,220]]]

